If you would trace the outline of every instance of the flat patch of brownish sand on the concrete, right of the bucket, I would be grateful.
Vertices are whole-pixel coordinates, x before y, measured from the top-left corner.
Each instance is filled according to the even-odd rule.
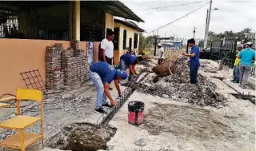
[[[152,135],[166,132],[178,137],[197,137],[200,141],[234,137],[232,129],[220,120],[206,109],[156,103],[140,126]]]

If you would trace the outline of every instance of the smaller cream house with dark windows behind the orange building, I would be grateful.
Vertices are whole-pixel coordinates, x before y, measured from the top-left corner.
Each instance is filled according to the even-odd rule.
[[[134,22],[114,19],[114,62],[119,62],[124,50],[138,50],[139,33],[144,31]]]

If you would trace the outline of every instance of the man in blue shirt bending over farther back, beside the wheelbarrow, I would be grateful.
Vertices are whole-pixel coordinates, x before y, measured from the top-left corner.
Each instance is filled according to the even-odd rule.
[[[138,62],[142,62],[142,57],[132,56],[130,54],[123,54],[120,57],[120,69],[126,70],[126,67],[129,67],[130,70],[130,76],[129,79],[131,79],[132,76],[136,77],[136,70],[135,65],[138,64]]]

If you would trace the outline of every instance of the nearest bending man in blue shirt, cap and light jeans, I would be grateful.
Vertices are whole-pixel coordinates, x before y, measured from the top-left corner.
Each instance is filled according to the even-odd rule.
[[[106,62],[97,62],[90,66],[89,77],[94,82],[97,90],[97,104],[94,112],[106,113],[102,106],[113,107],[114,99],[111,97],[109,88],[111,81],[114,80],[114,85],[118,89],[118,94],[121,96],[121,90],[118,82],[120,79],[126,79],[126,71],[116,70],[113,66]],[[107,102],[107,98],[110,99],[110,105]]]

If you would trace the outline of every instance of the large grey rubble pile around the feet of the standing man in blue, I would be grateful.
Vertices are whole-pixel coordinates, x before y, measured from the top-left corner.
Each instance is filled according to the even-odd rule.
[[[190,102],[196,105],[217,107],[224,105],[225,98],[214,91],[215,85],[198,74],[198,84],[190,84],[190,68],[187,58],[178,58],[175,63],[178,71],[150,86],[140,86],[144,93],[172,98],[176,101]]]

